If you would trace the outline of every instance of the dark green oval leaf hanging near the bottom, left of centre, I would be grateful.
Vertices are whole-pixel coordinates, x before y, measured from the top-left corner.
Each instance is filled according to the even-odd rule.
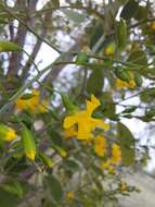
[[[60,181],[53,176],[48,175],[44,176],[43,180],[44,188],[47,188],[50,193],[50,197],[53,202],[60,203],[63,198],[63,190]]]

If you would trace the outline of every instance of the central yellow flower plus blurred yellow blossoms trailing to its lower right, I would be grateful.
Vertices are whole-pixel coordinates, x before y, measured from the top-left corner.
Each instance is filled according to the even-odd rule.
[[[103,130],[108,130],[109,125],[100,119],[92,118],[93,110],[100,106],[99,99],[91,95],[91,101],[87,100],[87,109],[74,112],[73,115],[67,115],[64,119],[63,126],[64,137],[77,137],[85,143],[93,144],[93,149],[96,156],[103,158],[108,157],[107,154],[107,143],[103,134],[98,136],[93,135],[93,130],[95,127],[101,127]],[[108,172],[115,171],[115,166],[121,161],[121,150],[117,144],[112,145],[112,156],[107,161],[102,162],[103,169]]]

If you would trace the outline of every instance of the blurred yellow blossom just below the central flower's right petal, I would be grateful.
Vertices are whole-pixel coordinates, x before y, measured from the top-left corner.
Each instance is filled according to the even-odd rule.
[[[106,150],[106,141],[104,136],[96,136],[94,139],[94,151],[99,157],[104,157]]]

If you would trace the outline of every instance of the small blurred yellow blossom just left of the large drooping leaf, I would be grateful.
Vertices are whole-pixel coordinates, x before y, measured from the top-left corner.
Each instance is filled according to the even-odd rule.
[[[112,145],[111,163],[117,165],[121,161],[121,150],[117,144]]]

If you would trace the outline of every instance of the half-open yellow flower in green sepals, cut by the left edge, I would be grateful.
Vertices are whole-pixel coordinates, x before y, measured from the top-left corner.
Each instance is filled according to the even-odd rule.
[[[0,138],[3,141],[13,141],[16,138],[16,133],[12,127],[0,124]]]

